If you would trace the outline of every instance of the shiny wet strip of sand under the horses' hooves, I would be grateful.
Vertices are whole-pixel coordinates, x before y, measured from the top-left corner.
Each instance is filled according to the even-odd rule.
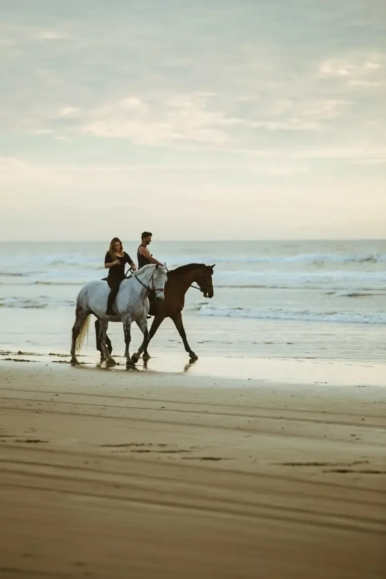
[[[70,356],[61,353],[39,354],[27,351],[0,352],[0,367],[13,363],[54,364],[71,367]],[[317,358],[249,358],[248,356],[200,356],[189,360],[187,354],[155,351],[149,360],[140,358],[134,368],[126,368],[126,358],[114,356],[117,364],[100,364],[100,356],[79,354],[79,366],[95,371],[139,372],[144,375],[175,376],[189,374],[212,380],[252,380],[271,384],[309,384],[310,386],[386,387],[386,365],[380,362],[321,360]],[[232,382],[230,382],[232,384]]]

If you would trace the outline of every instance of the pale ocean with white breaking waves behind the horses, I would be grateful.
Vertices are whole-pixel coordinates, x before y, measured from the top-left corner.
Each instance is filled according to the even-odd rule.
[[[134,261],[137,246],[124,241]],[[68,354],[76,295],[84,283],[106,275],[108,243],[1,243],[0,248],[2,359]],[[386,240],[154,240],[150,251],[169,269],[216,264],[214,298],[191,288],[183,310],[188,341],[199,357],[385,360]],[[97,360],[90,328],[83,354]],[[135,331],[136,349],[141,336]],[[110,324],[109,335],[122,355],[122,325]],[[149,351],[185,356],[170,320]]]

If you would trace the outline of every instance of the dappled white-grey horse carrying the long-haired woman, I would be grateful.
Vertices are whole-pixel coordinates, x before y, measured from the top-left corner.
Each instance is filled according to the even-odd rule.
[[[135,364],[144,351],[145,340],[149,339],[147,314],[149,312],[148,295],[155,292],[156,302],[164,301],[164,288],[167,281],[166,263],[163,267],[150,264],[141,267],[119,285],[119,292],[113,305],[115,316],[106,316],[107,296],[110,288],[103,280],[89,281],[83,285],[76,298],[75,324],[72,327],[71,364],[78,364],[75,353],[82,348],[84,338],[89,331],[90,316],[94,314],[100,321],[100,340],[106,364],[116,364],[106,348],[106,332],[109,321],[122,322],[126,349],[126,365]],[[135,321],[144,334],[144,341],[136,354],[130,358],[131,323]]]

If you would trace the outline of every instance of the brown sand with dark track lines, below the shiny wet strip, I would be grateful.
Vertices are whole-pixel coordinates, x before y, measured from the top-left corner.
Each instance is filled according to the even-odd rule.
[[[380,387],[34,362],[0,387],[1,579],[385,577]]]

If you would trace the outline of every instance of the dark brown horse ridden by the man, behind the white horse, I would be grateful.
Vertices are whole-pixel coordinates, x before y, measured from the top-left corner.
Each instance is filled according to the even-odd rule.
[[[162,303],[155,303],[150,301],[149,313],[154,316],[154,320],[149,331],[149,340],[144,344],[144,359],[150,358],[148,353],[148,344],[165,318],[171,318],[174,321],[175,327],[177,328],[178,333],[182,338],[185,350],[189,353],[190,359],[196,360],[198,358],[198,356],[189,346],[188,340],[186,339],[185,328],[183,327],[182,323],[182,310],[183,306],[185,305],[185,294],[191,286],[195,287],[193,285],[194,283],[198,285],[197,290],[203,292],[204,298],[213,297],[214,292],[212,276],[214,266],[215,265],[205,265],[204,263],[188,263],[188,265],[182,265],[181,267],[177,267],[176,269],[172,269],[170,272],[167,272],[168,278],[165,284],[164,301]],[[101,351],[101,346],[98,339],[98,324],[99,321],[97,320],[95,322],[95,330],[97,334],[97,350]],[[112,346],[107,336],[106,345],[108,346],[108,350],[111,353]]]

